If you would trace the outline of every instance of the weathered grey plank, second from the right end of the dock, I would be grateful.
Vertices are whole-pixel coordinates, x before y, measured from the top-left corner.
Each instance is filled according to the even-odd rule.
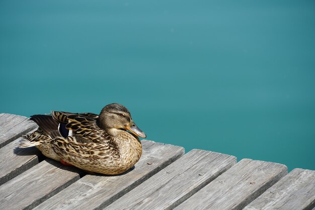
[[[243,159],[174,209],[242,209],[286,173],[282,164]]]

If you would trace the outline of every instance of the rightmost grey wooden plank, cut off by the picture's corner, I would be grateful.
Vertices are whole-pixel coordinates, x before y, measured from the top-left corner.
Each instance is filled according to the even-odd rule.
[[[296,210],[315,207],[315,171],[294,169],[244,209]]]

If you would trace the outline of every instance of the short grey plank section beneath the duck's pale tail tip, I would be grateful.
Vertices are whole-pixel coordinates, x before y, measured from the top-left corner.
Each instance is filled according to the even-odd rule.
[[[42,157],[35,147],[17,148],[20,139],[0,149],[0,185],[38,164],[38,156]]]

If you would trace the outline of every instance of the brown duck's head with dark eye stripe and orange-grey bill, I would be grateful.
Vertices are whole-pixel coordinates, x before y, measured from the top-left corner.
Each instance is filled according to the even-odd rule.
[[[121,104],[106,105],[99,115],[99,126],[112,135],[123,129],[137,136],[146,137],[145,133],[133,122],[128,109]]]

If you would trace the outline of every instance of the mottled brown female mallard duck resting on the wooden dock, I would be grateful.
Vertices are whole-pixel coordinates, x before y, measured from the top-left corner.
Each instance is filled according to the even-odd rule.
[[[35,146],[48,158],[101,174],[130,169],[142,153],[137,136],[146,137],[120,104],[105,106],[100,115],[52,111],[31,120],[39,128],[24,136],[20,148]]]

